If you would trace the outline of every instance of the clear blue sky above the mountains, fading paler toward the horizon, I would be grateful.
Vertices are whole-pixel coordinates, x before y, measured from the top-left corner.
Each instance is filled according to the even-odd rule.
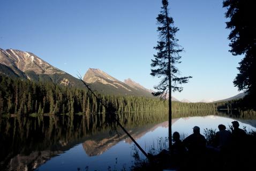
[[[29,51],[73,76],[100,68],[123,81],[130,77],[152,89],[149,75],[158,40],[161,1],[1,0],[0,48]],[[192,102],[238,94],[232,81],[241,57],[234,57],[225,29],[222,0],[170,1],[185,52],[177,67],[191,75],[174,97]]]

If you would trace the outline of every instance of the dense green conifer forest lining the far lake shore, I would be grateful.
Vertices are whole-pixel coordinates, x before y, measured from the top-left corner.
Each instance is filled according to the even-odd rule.
[[[117,112],[168,111],[168,101],[137,96],[100,95],[111,102]],[[172,102],[174,111],[213,111],[241,108],[242,100],[219,103]],[[0,76],[1,114],[75,114],[105,113],[104,106],[86,89],[58,86],[51,82],[34,82]]]

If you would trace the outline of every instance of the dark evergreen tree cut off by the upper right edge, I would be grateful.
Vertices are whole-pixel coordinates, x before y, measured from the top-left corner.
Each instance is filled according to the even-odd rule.
[[[227,8],[225,17],[230,19],[227,29],[231,32],[228,36],[231,43],[230,52],[232,55],[245,55],[239,63],[239,73],[237,74],[234,85],[238,90],[247,93],[247,105],[250,108],[256,107],[256,22],[255,0],[225,0],[223,7]]]

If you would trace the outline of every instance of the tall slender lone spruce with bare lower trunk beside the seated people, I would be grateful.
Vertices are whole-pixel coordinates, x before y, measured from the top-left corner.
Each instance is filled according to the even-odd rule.
[[[162,7],[160,14],[156,18],[159,27],[160,41],[157,41],[157,45],[154,47],[157,50],[154,59],[151,63],[150,75],[157,76],[162,80],[155,86],[154,96],[160,96],[165,98],[169,95],[169,148],[172,143],[171,139],[171,91],[182,91],[183,87],[180,84],[187,83],[191,76],[179,77],[179,70],[175,66],[180,63],[181,56],[179,52],[183,49],[178,45],[178,40],[175,38],[178,28],[174,27],[174,20],[169,16],[168,1],[162,0]]]

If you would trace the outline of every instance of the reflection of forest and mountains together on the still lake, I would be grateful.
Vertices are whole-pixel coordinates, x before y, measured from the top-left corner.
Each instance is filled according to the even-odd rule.
[[[227,116],[227,113],[215,111],[217,115]],[[173,118],[212,114],[214,111],[176,111]],[[158,127],[157,123],[167,121],[168,115],[166,112],[123,113],[119,114],[119,118],[122,125],[136,139]],[[162,125],[168,127],[168,122],[163,122]],[[0,126],[1,170],[36,168],[52,156],[79,143],[82,143],[88,156],[99,155],[122,139],[131,143],[121,129],[117,128],[115,131],[111,128],[102,114],[16,116],[1,118]]]

